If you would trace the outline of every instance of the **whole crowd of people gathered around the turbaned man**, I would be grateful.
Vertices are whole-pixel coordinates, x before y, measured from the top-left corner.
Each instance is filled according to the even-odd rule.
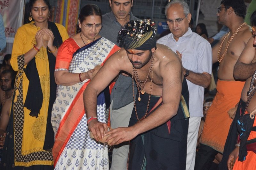
[[[0,169],[256,169],[256,11],[249,26],[244,0],[222,0],[228,33],[211,47],[184,0],[166,5],[158,40],[133,0],[109,5],[82,7],[68,37],[48,21],[49,0],[29,1],[0,69]]]

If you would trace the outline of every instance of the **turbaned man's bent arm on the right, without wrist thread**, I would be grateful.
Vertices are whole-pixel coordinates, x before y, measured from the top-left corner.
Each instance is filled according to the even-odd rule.
[[[182,88],[181,63],[177,59],[175,61],[165,62],[159,66],[160,74],[163,78],[163,105],[131,127],[116,128],[108,131],[106,136],[110,136],[107,138],[107,141],[113,139],[110,145],[130,141],[138,134],[160,126],[177,114]]]

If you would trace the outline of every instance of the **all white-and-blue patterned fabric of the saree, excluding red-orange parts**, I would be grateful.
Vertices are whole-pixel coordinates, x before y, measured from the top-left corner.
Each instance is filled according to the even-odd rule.
[[[114,43],[105,38],[101,38],[91,48],[86,49],[73,57],[69,66],[69,72],[80,73],[93,69],[96,65],[101,64],[106,59],[108,53],[114,46]],[[57,95],[52,107],[51,119],[55,135],[58,131],[62,118],[70,107],[70,104],[83,84],[87,81],[88,80],[85,80],[84,82],[79,82],[71,86],[57,86]],[[104,93],[102,93],[102,95],[104,95]],[[100,122],[107,123],[108,109],[106,109],[105,103],[97,106],[97,116]],[[85,115],[71,135],[65,149],[60,155],[55,169],[109,169],[108,147],[107,145],[104,146],[90,138]]]

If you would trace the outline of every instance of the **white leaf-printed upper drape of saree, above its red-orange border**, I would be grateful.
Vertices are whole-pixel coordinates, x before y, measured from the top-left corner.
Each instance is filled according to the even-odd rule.
[[[80,73],[93,69],[96,65],[103,63],[103,61],[108,56],[108,53],[114,46],[115,44],[113,42],[102,37],[91,48],[85,49],[73,57],[69,65],[69,71],[72,73]],[[90,58],[89,61],[88,58]],[[56,100],[52,107],[51,118],[51,123],[55,135],[58,131],[60,122],[68,110],[70,104],[76,97],[76,94],[81,89],[83,84],[87,81],[89,81],[89,79],[86,79],[83,82],[79,82],[75,85],[57,86]]]

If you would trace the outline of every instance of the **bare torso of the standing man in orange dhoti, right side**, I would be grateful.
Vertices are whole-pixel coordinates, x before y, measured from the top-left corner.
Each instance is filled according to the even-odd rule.
[[[229,35],[228,38],[224,40],[220,55],[222,55],[226,50],[226,44],[228,44],[228,40],[231,36],[232,35]],[[233,38],[228,47],[227,54],[224,56],[220,63],[220,67],[218,70],[218,78],[220,80],[235,80],[233,77],[234,66],[236,64],[238,57],[242,53],[247,41],[251,36],[252,32],[250,26],[244,26]],[[217,56],[220,43],[223,41],[224,37],[225,35],[220,39],[220,42],[212,48],[213,63],[218,61]]]

